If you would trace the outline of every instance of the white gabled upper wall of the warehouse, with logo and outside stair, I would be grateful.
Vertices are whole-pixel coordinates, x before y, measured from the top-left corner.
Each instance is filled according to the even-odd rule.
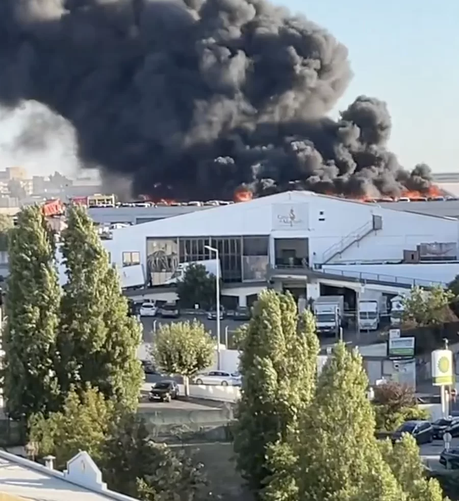
[[[297,222],[292,226],[279,224],[279,216],[288,214],[289,207],[294,208]],[[274,239],[309,238],[311,262],[321,263],[325,251],[363,225],[370,225],[373,214],[382,217],[382,229],[349,247],[335,261],[400,260],[404,249],[415,250],[423,242],[458,242],[457,220],[309,192],[287,192],[116,229],[113,239],[104,241],[104,246],[111,253],[112,262],[119,266],[123,251],[140,252],[145,265],[147,237],[270,235],[273,261]]]

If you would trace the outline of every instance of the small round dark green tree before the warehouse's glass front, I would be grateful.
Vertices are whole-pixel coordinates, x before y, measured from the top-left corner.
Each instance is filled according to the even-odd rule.
[[[204,265],[192,263],[183,280],[177,283],[177,296],[184,308],[194,308],[195,304],[199,304],[201,308],[207,309],[215,305],[215,289],[215,275],[209,274]]]

